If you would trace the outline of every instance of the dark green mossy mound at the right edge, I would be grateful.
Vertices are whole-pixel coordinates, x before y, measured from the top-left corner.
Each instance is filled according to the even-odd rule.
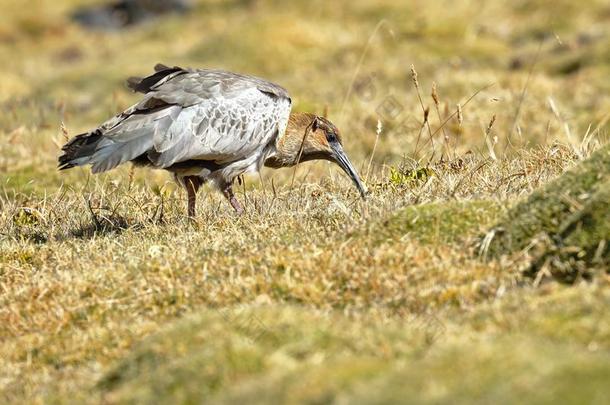
[[[568,281],[610,265],[610,145],[509,210],[493,232],[494,255],[528,249],[531,270]]]

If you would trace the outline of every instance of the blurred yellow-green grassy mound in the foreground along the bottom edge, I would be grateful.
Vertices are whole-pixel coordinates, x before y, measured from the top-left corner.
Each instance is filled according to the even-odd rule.
[[[577,291],[521,303],[510,294],[471,315],[474,327],[427,314],[204,311],[143,341],[90,395],[109,403],[601,403],[610,395],[610,296]],[[526,315],[514,305],[541,309]]]

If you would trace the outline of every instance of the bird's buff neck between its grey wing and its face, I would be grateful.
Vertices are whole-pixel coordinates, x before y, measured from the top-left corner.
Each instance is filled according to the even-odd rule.
[[[310,113],[291,113],[286,132],[277,139],[275,151],[265,159],[265,166],[291,167],[298,162],[310,160],[308,156],[310,140],[305,135],[314,118],[315,115]]]

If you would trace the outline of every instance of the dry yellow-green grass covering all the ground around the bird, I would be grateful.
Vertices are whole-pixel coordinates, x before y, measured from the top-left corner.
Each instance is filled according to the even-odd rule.
[[[607,402],[608,273],[548,267],[607,268],[587,174],[608,150],[605,2],[201,1],[120,33],[72,24],[83,3],[0,2],[0,402]],[[57,172],[156,62],[328,108],[368,201],[308,163],[246,178],[242,217],[204,190],[191,222],[165,173]],[[483,257],[498,225],[533,231]]]

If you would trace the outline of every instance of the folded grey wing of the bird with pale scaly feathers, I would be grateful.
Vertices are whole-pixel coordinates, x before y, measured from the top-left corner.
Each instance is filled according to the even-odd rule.
[[[264,148],[286,129],[291,102],[276,84],[220,70],[156,70],[130,79],[144,98],[99,128],[103,140],[92,159],[94,172],[143,153],[160,168],[192,159],[228,163]]]

